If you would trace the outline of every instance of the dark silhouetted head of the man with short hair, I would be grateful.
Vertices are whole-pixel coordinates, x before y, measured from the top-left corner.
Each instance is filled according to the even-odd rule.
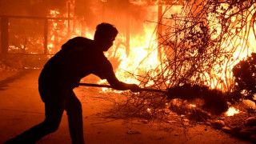
[[[109,23],[101,23],[96,27],[94,42],[102,51],[107,51],[113,45],[118,30]]]

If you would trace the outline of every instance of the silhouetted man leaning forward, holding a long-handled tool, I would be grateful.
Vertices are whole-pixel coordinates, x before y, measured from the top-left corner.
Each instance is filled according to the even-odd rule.
[[[73,89],[86,75],[95,74],[106,79],[116,90],[137,91],[137,85],[118,81],[103,54],[113,45],[117,34],[118,30],[113,25],[102,23],[96,28],[94,40],[76,37],[66,42],[62,50],[46,63],[39,76],[39,93],[45,102],[46,119],[6,143],[38,142],[46,134],[58,130],[64,110],[68,116],[72,143],[84,143],[82,105]]]

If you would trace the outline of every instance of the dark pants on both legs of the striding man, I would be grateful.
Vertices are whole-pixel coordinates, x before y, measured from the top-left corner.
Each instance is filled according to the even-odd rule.
[[[70,137],[73,144],[84,143],[82,126],[82,105],[73,90],[54,90],[39,88],[42,101],[45,102],[46,119],[37,126],[10,139],[6,143],[35,143],[43,136],[58,130],[63,111],[68,117]]]

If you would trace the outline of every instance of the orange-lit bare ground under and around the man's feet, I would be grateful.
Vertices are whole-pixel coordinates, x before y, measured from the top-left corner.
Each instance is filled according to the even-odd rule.
[[[38,94],[39,74],[40,70],[0,72],[0,143],[44,120],[44,104]],[[206,125],[185,128],[171,124],[145,124],[139,120],[125,123],[123,119],[103,118],[101,113],[109,110],[113,101],[123,96],[102,94],[99,91],[99,88],[85,86],[74,90],[82,102],[87,144],[250,143]],[[66,114],[62,117],[59,129],[38,143],[71,143]]]

